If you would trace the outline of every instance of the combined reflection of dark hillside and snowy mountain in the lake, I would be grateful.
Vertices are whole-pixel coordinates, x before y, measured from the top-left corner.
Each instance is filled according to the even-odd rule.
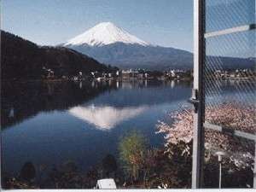
[[[79,119],[110,129],[120,119],[129,119],[142,112],[145,106],[184,98],[188,90],[183,86],[189,85],[176,86],[163,81],[3,84],[2,126],[14,125],[39,112],[72,108],[69,112]],[[73,108],[81,104],[81,108]],[[92,105],[96,108],[90,108]]]

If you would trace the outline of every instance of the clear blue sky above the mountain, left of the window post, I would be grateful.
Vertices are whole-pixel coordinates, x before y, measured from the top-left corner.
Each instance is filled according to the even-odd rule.
[[[193,0],[2,0],[2,28],[55,45],[111,21],[143,40],[192,51]]]

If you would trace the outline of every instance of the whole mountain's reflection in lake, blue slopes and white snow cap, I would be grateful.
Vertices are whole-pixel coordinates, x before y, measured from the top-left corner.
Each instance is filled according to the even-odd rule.
[[[175,86],[174,82],[116,82],[116,86],[118,90],[106,91],[68,112],[95,125],[96,129],[107,131],[145,110],[150,110],[152,105],[182,100],[189,94],[188,84]]]

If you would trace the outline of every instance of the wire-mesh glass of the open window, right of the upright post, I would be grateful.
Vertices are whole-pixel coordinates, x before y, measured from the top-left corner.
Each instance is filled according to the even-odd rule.
[[[253,187],[256,31],[237,27],[254,23],[255,0],[206,1],[206,187]]]

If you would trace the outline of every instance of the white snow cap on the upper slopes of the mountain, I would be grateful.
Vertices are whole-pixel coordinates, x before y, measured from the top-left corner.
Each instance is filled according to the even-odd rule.
[[[149,45],[143,40],[131,35],[129,32],[126,32],[124,29],[113,25],[111,22],[102,22],[79,36],[68,40],[64,46],[81,44],[102,46],[117,42],[124,44],[141,44],[143,46]]]

